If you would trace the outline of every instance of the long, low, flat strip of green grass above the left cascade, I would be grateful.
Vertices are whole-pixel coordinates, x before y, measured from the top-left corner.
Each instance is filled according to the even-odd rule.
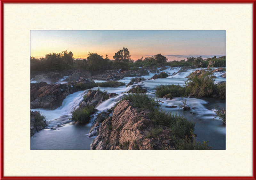
[[[101,83],[91,83],[91,84],[85,84],[83,82],[77,83],[75,84],[76,88],[78,90],[87,90],[87,89],[91,89],[94,87],[117,87],[119,84],[121,84],[122,86],[125,85],[125,83],[120,82],[120,81],[106,81],[106,82],[101,82]]]

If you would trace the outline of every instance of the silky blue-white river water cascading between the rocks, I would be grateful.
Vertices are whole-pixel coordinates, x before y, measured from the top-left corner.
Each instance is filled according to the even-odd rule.
[[[201,68],[197,68],[201,69]],[[141,84],[147,88],[147,94],[150,96],[155,96],[154,87],[160,84],[180,84],[183,85],[187,80],[185,76],[188,76],[192,71],[197,69],[189,69],[188,72],[177,73],[176,75],[169,76],[168,78],[159,78],[155,80],[146,80],[142,83],[135,83],[128,87],[121,86],[117,88],[111,87],[99,87],[100,90],[108,90],[109,93],[116,93],[118,96],[110,98],[102,102],[99,106],[96,107],[99,111],[91,116],[90,123],[87,125],[74,125],[68,118],[71,117],[70,112],[74,107],[77,107],[82,101],[83,96],[88,92],[78,91],[73,94],[68,95],[62,106],[55,110],[45,110],[41,109],[40,111],[48,119],[47,123],[49,124],[46,129],[35,133],[31,137],[31,149],[90,149],[90,144],[92,140],[96,137],[95,132],[92,132],[92,137],[89,137],[89,131],[92,127],[92,124],[95,122],[97,115],[105,111],[107,108],[111,108],[115,102],[120,100],[124,95],[122,92],[128,91],[133,86]],[[178,72],[180,68],[167,68],[164,72],[172,75],[174,72]],[[162,72],[162,71],[160,71]],[[220,77],[225,72],[217,72],[215,82],[225,81],[225,78]],[[149,79],[154,76],[153,73],[149,73],[148,76],[143,76],[145,79]],[[120,81],[124,83],[129,83],[132,77],[125,77]],[[33,79],[32,79],[33,80]],[[95,80],[95,82],[103,82]],[[94,89],[97,89],[94,88]],[[209,140],[209,146],[214,147],[214,149],[225,149],[225,134],[226,128],[221,121],[214,120],[212,121],[215,113],[213,109],[216,107],[225,108],[225,100],[212,99],[212,98],[186,98],[187,103],[190,107],[195,107],[190,112],[195,114],[184,112],[179,109],[179,104],[181,104],[181,97],[174,97],[172,100],[166,100],[163,98],[158,98],[164,103],[161,105],[161,108],[164,111],[172,112],[183,115],[188,119],[192,119],[196,122],[195,134],[197,134],[196,139],[199,141]],[[166,108],[165,106],[178,106],[177,108]],[[31,111],[36,111],[36,109],[31,109]],[[58,126],[59,125],[59,126]],[[55,130],[52,130],[51,128]]]

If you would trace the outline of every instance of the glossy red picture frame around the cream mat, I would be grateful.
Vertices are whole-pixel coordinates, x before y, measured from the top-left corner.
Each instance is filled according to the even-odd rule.
[[[98,180],[98,179],[105,179],[105,180],[111,180],[111,179],[122,179],[122,180],[128,180],[128,179],[180,179],[180,180],[196,180],[196,179],[201,179],[201,180],[210,180],[210,179],[226,179],[226,180],[255,180],[256,179],[256,96],[255,93],[253,93],[253,176],[156,176],[156,177],[136,177],[136,176],[129,176],[129,177],[124,177],[124,176],[106,176],[106,177],[99,177],[99,176],[85,176],[85,177],[78,177],[78,176],[4,176],[4,3],[6,4],[27,4],[27,3],[32,3],[32,4],[38,4],[38,3],[43,3],[43,4],[56,4],[56,3],[63,3],[63,4],[76,4],[76,3],[118,3],[118,4],[133,4],[133,3],[170,3],[170,4],[253,4],[253,92],[256,91],[256,0],[0,0],[0,179],[1,180],[22,180],[22,179],[36,179],[36,180],[49,180],[49,179],[54,179],[54,180],[83,180],[83,179],[93,179],[93,180]]]

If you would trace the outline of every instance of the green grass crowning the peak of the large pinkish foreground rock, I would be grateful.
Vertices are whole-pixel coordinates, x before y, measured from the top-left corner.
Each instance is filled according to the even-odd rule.
[[[155,110],[155,107],[158,105],[157,100],[154,97],[150,97],[148,94],[125,94],[114,104],[114,108],[123,100],[131,100],[132,106],[141,109]]]

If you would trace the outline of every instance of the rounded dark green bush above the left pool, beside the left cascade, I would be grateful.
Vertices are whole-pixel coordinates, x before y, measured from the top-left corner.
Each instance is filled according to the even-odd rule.
[[[69,118],[72,121],[78,122],[78,123],[88,123],[90,120],[90,115],[94,112],[94,106],[89,105],[88,107],[84,108],[73,108],[71,112],[71,118]]]

